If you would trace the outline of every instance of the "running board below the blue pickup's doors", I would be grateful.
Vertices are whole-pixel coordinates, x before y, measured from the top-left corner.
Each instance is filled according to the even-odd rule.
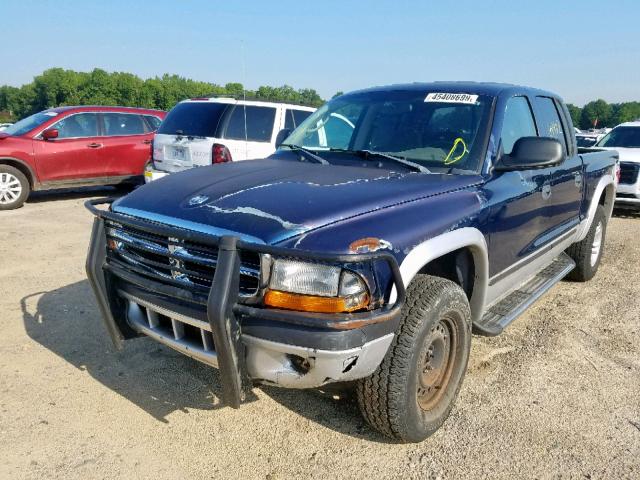
[[[562,280],[575,268],[575,262],[562,252],[549,265],[531,277],[487,310],[482,320],[473,324],[474,333],[494,337],[518,318],[547,290]]]

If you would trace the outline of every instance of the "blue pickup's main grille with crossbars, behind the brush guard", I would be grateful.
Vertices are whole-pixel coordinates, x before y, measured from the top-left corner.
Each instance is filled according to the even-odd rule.
[[[105,222],[107,262],[206,298],[218,263],[217,247],[178,237],[157,235],[130,225]],[[260,256],[240,252],[240,295],[255,295],[260,286]]]

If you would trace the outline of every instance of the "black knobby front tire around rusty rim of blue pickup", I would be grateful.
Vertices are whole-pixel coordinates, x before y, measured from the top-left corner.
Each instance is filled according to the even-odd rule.
[[[443,320],[444,319],[444,320]],[[434,332],[450,323],[448,381],[437,393],[433,408],[419,402],[426,353]],[[467,369],[471,346],[471,312],[464,291],[455,283],[417,275],[407,289],[402,320],[389,350],[376,371],[356,386],[358,405],[366,421],[384,435],[402,442],[420,442],[434,433],[453,407]],[[424,367],[428,368],[428,367]],[[439,392],[439,390],[438,390]]]

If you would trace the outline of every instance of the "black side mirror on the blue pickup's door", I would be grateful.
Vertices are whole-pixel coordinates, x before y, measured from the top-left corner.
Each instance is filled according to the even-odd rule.
[[[548,137],[522,137],[508,155],[502,155],[497,171],[532,170],[558,165],[564,159],[562,144]]]

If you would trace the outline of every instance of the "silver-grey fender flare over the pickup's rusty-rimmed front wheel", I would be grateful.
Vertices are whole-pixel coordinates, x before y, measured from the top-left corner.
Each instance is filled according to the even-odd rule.
[[[469,300],[471,320],[477,322],[484,313],[487,285],[489,284],[489,256],[484,235],[477,228],[464,227],[445,232],[419,243],[411,249],[400,264],[400,274],[408,286],[417,273],[429,262],[461,248],[468,248],[473,255],[474,283]],[[390,302],[395,302],[395,289]]]

